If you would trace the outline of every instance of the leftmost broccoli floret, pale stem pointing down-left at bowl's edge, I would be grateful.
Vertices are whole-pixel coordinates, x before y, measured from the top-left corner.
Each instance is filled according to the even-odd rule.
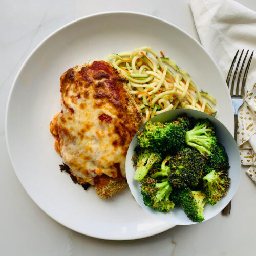
[[[133,156],[133,161],[136,165],[133,178],[137,181],[142,181],[154,164],[161,162],[161,160],[162,157],[159,153],[137,149],[136,154]]]

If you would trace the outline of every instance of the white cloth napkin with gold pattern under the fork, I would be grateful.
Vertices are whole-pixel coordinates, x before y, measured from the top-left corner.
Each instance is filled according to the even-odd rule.
[[[233,0],[189,2],[202,45],[215,59],[226,78],[238,49],[244,49],[245,52],[250,50],[247,60],[252,50],[256,50],[256,12]],[[245,92],[245,103],[238,112],[237,143],[241,162],[250,166],[247,174],[256,183],[256,51],[248,72]]]

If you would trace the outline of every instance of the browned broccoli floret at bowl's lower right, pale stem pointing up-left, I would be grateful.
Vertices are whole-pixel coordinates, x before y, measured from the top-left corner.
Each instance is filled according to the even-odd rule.
[[[203,178],[204,190],[208,203],[214,205],[227,194],[230,178],[227,173],[212,170]]]

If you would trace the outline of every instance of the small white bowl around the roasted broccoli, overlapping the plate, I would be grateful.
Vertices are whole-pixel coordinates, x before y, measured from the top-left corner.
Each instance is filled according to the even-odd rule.
[[[205,219],[204,221],[206,221],[214,217],[215,215],[217,215],[228,204],[228,202],[232,199],[232,197],[236,193],[239,180],[240,180],[240,174],[241,174],[240,155],[238,151],[238,146],[234,141],[230,132],[227,130],[227,128],[216,118],[209,116],[208,114],[205,114],[203,112],[200,112],[197,110],[187,110],[187,109],[170,110],[153,117],[150,121],[161,122],[161,123],[170,122],[182,113],[186,113],[189,117],[208,118],[216,127],[218,141],[225,146],[226,152],[229,157],[230,168],[228,172],[229,172],[229,177],[231,179],[229,191],[227,195],[224,196],[217,204],[213,206],[209,204],[205,205],[203,215]],[[143,129],[144,125],[141,127],[141,129]],[[176,224],[176,225],[196,224],[197,222],[193,222],[188,219],[188,217],[186,216],[186,214],[184,213],[184,211],[181,209],[180,206],[177,206],[174,209],[171,209],[170,212],[159,212],[144,205],[143,198],[140,193],[140,184],[138,181],[133,179],[135,167],[133,167],[133,163],[131,159],[135,153],[134,149],[136,146],[137,146],[137,138],[136,136],[134,136],[129,146],[129,150],[127,152],[125,168],[126,168],[126,177],[127,177],[128,185],[137,203],[146,212],[148,212],[149,214],[153,215],[154,217],[158,218],[161,221]]]

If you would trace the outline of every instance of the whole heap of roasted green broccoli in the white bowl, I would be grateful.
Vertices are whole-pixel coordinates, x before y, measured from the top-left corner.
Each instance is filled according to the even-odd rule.
[[[137,134],[134,179],[146,206],[169,212],[180,205],[191,221],[204,220],[204,205],[226,195],[228,155],[208,119],[180,115],[170,123],[147,122]]]

